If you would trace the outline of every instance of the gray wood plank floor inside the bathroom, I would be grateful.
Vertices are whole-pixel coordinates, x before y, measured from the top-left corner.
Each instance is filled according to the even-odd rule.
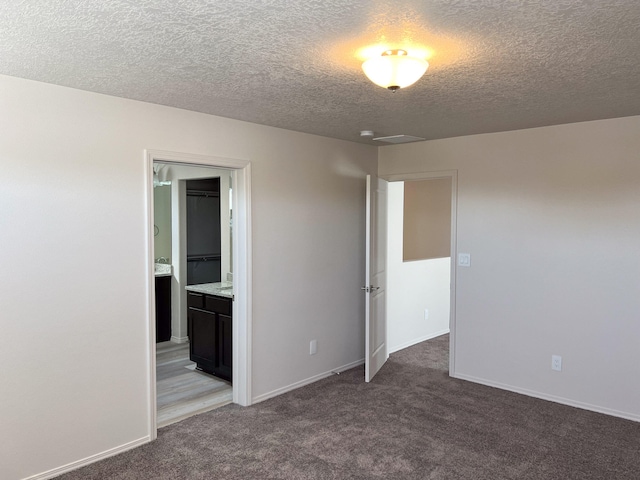
[[[229,382],[195,370],[189,344],[156,344],[158,428],[232,402]]]

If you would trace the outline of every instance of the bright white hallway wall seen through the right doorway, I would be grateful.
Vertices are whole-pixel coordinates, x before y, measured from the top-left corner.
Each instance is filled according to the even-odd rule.
[[[389,182],[387,194],[387,343],[393,353],[449,332],[451,263],[402,261],[404,182]]]

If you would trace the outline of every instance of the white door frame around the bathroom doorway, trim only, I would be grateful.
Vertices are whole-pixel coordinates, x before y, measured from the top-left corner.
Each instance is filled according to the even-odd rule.
[[[147,193],[147,325],[149,334],[149,431],[157,438],[156,405],[156,325],[154,275],[154,205],[153,163],[173,163],[183,166],[211,167],[233,170],[233,403],[251,405],[252,359],[252,297],[251,297],[251,162],[232,158],[189,153],[150,150],[145,155]]]

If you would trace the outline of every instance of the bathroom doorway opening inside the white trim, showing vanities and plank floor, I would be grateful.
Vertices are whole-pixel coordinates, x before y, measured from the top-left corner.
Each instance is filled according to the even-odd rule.
[[[162,427],[233,399],[233,170],[154,162],[153,171],[156,405]]]

